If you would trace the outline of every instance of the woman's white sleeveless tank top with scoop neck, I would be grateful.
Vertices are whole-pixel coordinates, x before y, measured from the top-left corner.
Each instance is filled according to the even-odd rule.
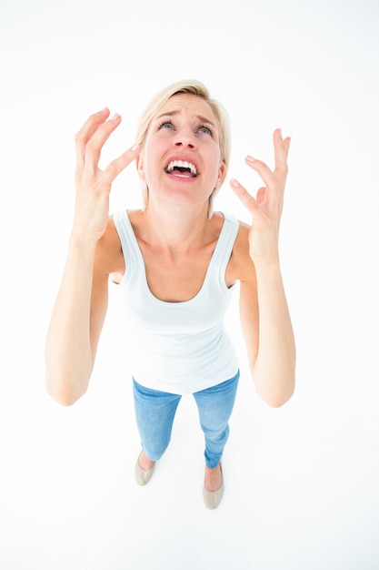
[[[193,299],[182,302],[153,295],[127,212],[114,215],[125,258],[120,288],[130,332],[130,370],[136,382],[146,388],[194,393],[229,380],[238,371],[234,347],[224,330],[224,314],[235,287],[226,286],[225,270],[239,224],[232,216],[223,215],[223,228],[203,286]]]

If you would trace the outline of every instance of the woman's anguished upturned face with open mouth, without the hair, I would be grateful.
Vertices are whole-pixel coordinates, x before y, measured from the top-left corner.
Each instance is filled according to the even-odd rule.
[[[212,108],[195,95],[170,97],[152,120],[137,164],[149,200],[207,204],[225,173]]]

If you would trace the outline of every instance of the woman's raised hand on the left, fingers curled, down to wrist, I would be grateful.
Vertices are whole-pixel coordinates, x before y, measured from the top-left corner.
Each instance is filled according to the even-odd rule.
[[[98,162],[108,137],[121,122],[115,114],[108,119],[105,108],[89,117],[75,136],[75,218],[73,233],[80,239],[97,242],[105,233],[109,216],[109,194],[115,177],[130,164],[140,152],[134,145],[101,170]],[[108,120],[107,120],[108,119]]]

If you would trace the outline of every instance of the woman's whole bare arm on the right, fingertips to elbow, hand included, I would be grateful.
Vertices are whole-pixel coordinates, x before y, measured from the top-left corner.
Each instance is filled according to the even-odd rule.
[[[261,161],[246,159],[266,185],[258,190],[256,198],[232,181],[234,192],[253,218],[248,249],[254,271],[247,271],[241,280],[244,339],[256,390],[274,407],[283,405],[294,392],[294,331],[278,254],[289,142],[289,138],[283,140],[279,130],[274,132],[274,172]]]

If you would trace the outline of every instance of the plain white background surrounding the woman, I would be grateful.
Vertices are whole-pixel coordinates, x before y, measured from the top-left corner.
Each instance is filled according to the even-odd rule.
[[[378,101],[374,0],[3,0],[0,7],[0,567],[4,570],[374,570],[379,567]],[[89,392],[45,395],[45,332],[65,261],[75,131],[123,116],[103,162],[134,143],[155,92],[198,78],[228,109],[229,172],[293,139],[281,235],[296,335],[294,398],[242,379],[225,495],[204,508],[191,398],[145,488],[116,288]],[[135,168],[112,210],[140,204]],[[229,184],[216,201],[248,216]]]

